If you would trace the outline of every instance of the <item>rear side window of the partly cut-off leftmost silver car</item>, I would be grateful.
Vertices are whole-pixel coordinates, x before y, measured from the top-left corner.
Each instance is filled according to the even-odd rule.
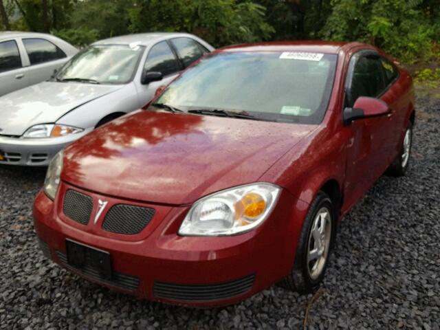
[[[67,57],[60,48],[45,39],[23,39],[23,44],[31,65]]]

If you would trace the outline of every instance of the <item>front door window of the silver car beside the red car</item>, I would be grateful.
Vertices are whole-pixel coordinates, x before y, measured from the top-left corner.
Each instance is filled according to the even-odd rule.
[[[146,71],[162,72],[164,76],[168,76],[179,72],[180,65],[168,43],[161,41],[151,47],[144,69]]]

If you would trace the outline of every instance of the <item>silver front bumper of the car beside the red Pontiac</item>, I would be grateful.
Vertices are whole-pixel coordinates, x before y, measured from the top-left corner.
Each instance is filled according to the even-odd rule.
[[[61,149],[83,137],[92,129],[65,137],[23,139],[0,135],[0,164],[18,166],[48,166]]]

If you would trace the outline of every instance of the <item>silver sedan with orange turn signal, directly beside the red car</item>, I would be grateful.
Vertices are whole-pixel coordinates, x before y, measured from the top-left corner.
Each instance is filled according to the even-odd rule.
[[[98,41],[50,80],[0,98],[0,164],[47,166],[74,140],[143,107],[161,85],[214,48],[191,34]]]

